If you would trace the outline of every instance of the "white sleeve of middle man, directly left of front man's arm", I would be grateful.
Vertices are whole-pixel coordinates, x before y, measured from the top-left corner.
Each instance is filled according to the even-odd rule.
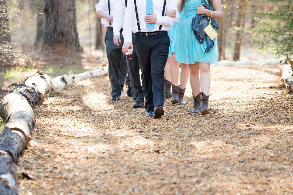
[[[123,24],[123,16],[124,12],[124,3],[123,0],[118,0],[117,5],[115,7],[114,18],[112,22],[113,32],[115,35],[120,35],[120,29],[122,28]]]

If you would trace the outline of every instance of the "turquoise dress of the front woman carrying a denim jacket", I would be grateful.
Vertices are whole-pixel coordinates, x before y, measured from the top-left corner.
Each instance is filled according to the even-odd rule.
[[[202,3],[201,0],[187,0],[184,4],[184,19],[181,22],[181,28],[178,40],[175,45],[176,61],[184,64],[195,64],[196,62],[205,62],[209,64],[218,64],[218,42],[215,38],[215,46],[205,52],[207,43],[199,44],[194,31],[191,29],[192,18],[197,13],[197,6]]]

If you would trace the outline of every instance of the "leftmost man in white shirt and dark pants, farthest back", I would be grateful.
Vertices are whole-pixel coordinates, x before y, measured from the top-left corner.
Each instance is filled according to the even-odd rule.
[[[110,2],[110,3],[109,3]],[[96,5],[96,14],[99,18],[104,18],[106,31],[106,53],[109,61],[109,78],[112,87],[112,101],[120,100],[125,77],[127,75],[126,56],[121,52],[123,42],[117,46],[113,43],[113,14],[115,12],[117,0],[100,0]],[[110,10],[109,10],[110,9]],[[122,29],[119,29],[119,34],[122,37]],[[128,86],[130,83],[128,82]]]

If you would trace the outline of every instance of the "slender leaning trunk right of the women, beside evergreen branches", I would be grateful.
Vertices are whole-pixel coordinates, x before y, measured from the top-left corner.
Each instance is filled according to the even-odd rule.
[[[237,17],[237,27],[244,28],[245,24],[245,0],[240,0],[239,9],[238,9],[238,17]],[[236,33],[236,41],[234,48],[234,61],[238,61],[240,59],[240,49],[243,39],[243,30],[237,30]]]

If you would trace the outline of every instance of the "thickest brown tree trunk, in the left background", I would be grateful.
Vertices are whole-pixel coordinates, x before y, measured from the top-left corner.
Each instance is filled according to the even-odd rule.
[[[81,49],[78,39],[75,0],[45,0],[46,24],[43,45],[63,44]]]

